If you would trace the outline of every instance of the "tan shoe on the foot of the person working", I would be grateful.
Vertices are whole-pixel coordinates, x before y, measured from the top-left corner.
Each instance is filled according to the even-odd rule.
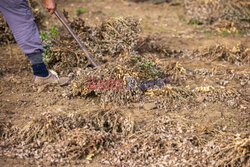
[[[42,84],[58,84],[60,86],[65,86],[69,83],[70,79],[68,77],[61,77],[59,78],[56,74],[53,74],[49,71],[49,75],[47,77],[39,77],[34,76],[34,84],[42,85]]]

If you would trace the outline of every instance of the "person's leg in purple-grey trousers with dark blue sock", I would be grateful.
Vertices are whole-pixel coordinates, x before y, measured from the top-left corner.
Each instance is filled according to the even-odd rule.
[[[11,28],[19,47],[28,56],[35,76],[49,72],[42,60],[43,46],[34,17],[26,0],[1,0],[0,11]]]

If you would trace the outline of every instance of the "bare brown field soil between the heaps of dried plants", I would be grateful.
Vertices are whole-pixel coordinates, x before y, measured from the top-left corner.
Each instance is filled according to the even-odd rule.
[[[130,16],[142,19],[142,37],[155,34],[154,36],[161,38],[162,45],[176,51],[190,51],[191,53],[194,50],[202,50],[214,45],[232,49],[242,44],[248,48],[246,60],[249,60],[249,34],[210,33],[206,31],[208,25],[190,25],[182,4],[155,5],[150,2],[133,3],[123,0],[75,0],[59,1],[58,8],[69,12],[70,18],[76,17],[77,9],[85,8],[80,17],[92,27],[99,26],[102,21],[110,17]],[[51,23],[60,24],[55,16],[46,16],[47,27],[51,27]],[[228,93],[225,97],[221,97],[223,100],[219,100],[219,96],[223,95],[211,95],[208,97],[211,98],[209,100],[206,100],[206,97],[197,96],[194,99],[195,102],[190,101],[190,103],[185,103],[185,106],[183,104],[177,109],[168,111],[156,109],[154,104],[148,102],[133,103],[132,107],[127,107],[115,104],[103,106],[83,97],[69,99],[62,96],[67,86],[37,89],[32,84],[33,76],[29,61],[18,46],[16,44],[1,46],[0,50],[1,122],[11,122],[16,127],[24,127],[31,119],[47,111],[82,113],[100,109],[119,110],[125,118],[141,127],[143,124],[149,125],[151,120],[159,117],[169,117],[177,122],[186,123],[190,127],[194,126],[195,131],[200,131],[200,134],[204,134],[205,131],[214,134],[220,131],[232,135],[246,135],[249,140],[249,62],[238,65],[235,62],[209,56],[207,59],[196,59],[195,56],[193,58],[185,56],[161,58],[157,65],[162,68],[170,63],[178,62],[184,69],[188,69],[189,72],[185,74],[187,77],[185,86],[188,85],[191,90],[200,88],[200,92],[205,93],[209,93],[211,89],[215,89],[212,92],[218,90],[218,92],[235,91],[238,93],[235,96],[232,95],[232,98]],[[157,53],[153,55],[159,56]],[[234,78],[230,80],[233,74]],[[205,90],[205,88],[203,90],[202,87],[210,90]],[[204,140],[211,141],[213,137],[213,135],[207,135]],[[202,137],[198,136],[198,138]],[[103,166],[99,161],[102,158],[105,159],[105,156],[98,154],[87,166]],[[23,160],[0,154],[0,166],[35,166],[35,164],[32,158]]]

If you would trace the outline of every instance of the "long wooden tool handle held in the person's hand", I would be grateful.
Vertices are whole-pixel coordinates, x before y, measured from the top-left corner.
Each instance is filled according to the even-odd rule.
[[[74,31],[72,30],[72,28],[68,25],[68,23],[64,20],[64,18],[61,16],[61,14],[55,9],[54,11],[55,15],[57,16],[57,18],[61,21],[61,23],[65,26],[65,28],[69,31],[69,33],[75,38],[76,42],[78,43],[78,45],[81,47],[81,49],[83,50],[85,56],[88,58],[88,60],[91,62],[91,64],[94,67],[99,66],[99,64],[94,60],[94,58],[90,55],[90,53],[88,52],[88,50],[86,49],[86,47],[82,44],[81,40],[77,37],[77,35],[74,33]]]

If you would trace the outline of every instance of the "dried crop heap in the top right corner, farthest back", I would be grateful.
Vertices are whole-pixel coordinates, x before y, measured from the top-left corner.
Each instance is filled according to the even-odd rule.
[[[235,29],[248,30],[250,4],[248,0],[185,0],[187,14],[191,20],[205,23],[221,22],[219,27],[236,31]],[[218,26],[218,25],[217,25]]]

